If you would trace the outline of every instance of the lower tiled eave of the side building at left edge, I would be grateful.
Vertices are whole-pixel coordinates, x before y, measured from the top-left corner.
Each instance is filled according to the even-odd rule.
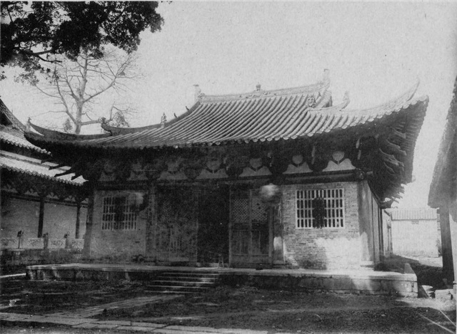
[[[76,179],[72,180],[71,177],[73,177],[74,174],[54,177],[56,172],[64,172],[69,169],[69,167],[49,169],[49,167],[55,166],[56,164],[52,164],[50,162],[45,162],[42,164],[41,160],[0,150],[0,167],[2,169],[5,168],[13,172],[34,175],[36,177],[43,177],[45,179],[51,179],[54,182],[63,182],[66,184],[82,185],[85,182],[82,177],[77,177]]]

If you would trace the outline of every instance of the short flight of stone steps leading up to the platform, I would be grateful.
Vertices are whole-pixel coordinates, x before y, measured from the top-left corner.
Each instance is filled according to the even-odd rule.
[[[196,271],[164,271],[148,284],[149,292],[155,293],[202,293],[214,288],[219,273]]]

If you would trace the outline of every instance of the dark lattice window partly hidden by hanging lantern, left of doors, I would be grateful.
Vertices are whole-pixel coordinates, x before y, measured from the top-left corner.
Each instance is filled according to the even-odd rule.
[[[134,207],[130,205],[129,198],[126,195],[104,197],[101,229],[136,230],[136,212]]]

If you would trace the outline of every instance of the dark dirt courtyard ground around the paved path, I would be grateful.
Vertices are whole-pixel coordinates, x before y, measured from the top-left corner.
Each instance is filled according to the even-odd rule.
[[[430,263],[428,263],[430,264]],[[401,263],[398,264],[401,266]],[[423,266],[436,280],[441,267]],[[419,265],[416,266],[419,268]],[[433,269],[434,268],[434,269]],[[419,274],[418,274],[419,276]],[[49,314],[81,311],[116,301],[154,296],[142,283],[118,281],[1,281],[0,312]],[[268,333],[451,333],[456,332],[455,300],[398,298],[337,293],[267,291],[221,286],[207,293],[156,300],[143,306],[105,309],[91,318],[268,330]],[[109,333],[59,326],[6,325],[2,333]],[[53,332],[54,330],[54,332]],[[55,331],[57,330],[57,331]]]

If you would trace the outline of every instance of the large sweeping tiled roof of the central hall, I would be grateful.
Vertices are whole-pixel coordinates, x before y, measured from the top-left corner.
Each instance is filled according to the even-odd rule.
[[[329,81],[283,90],[256,90],[248,94],[199,95],[196,104],[184,115],[160,127],[137,129],[104,126],[109,137],[65,140],[64,134],[26,137],[37,144],[46,142],[86,147],[160,148],[194,145],[226,145],[242,142],[293,140],[316,137],[348,128],[366,128],[388,119],[390,115],[416,105],[426,105],[428,98],[412,99],[417,85],[400,97],[376,108],[346,110],[348,100],[331,106]],[[419,108],[421,109],[421,108]],[[423,113],[425,109],[423,108]],[[423,114],[422,113],[422,114]],[[423,115],[418,115],[423,120]],[[38,132],[40,128],[36,127]],[[420,130],[414,129],[416,132]],[[413,136],[415,141],[417,134]]]

